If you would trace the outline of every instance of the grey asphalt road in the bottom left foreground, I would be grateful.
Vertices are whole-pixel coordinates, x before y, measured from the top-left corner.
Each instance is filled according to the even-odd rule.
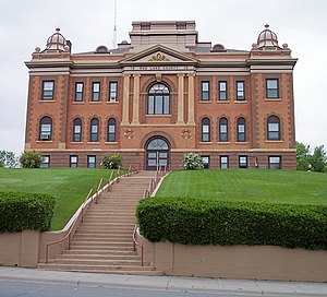
[[[144,290],[22,281],[0,281],[0,297],[257,297],[190,292]]]

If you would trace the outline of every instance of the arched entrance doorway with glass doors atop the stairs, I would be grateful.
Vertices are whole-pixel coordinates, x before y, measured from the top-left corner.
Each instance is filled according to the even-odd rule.
[[[146,150],[146,169],[157,170],[159,166],[169,167],[169,142],[161,136],[154,136],[148,140]]]

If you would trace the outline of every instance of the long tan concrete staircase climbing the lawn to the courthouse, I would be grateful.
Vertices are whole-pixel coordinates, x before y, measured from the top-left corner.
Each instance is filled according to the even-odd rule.
[[[97,272],[134,275],[162,275],[133,250],[132,234],[135,207],[148,188],[154,171],[140,171],[105,191],[97,204],[92,204],[84,222],[73,236],[70,250],[58,254],[39,269],[77,272]]]

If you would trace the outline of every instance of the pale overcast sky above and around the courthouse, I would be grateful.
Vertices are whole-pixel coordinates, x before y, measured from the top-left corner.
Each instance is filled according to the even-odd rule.
[[[0,2],[0,151],[24,151],[28,69],[35,47],[45,49],[56,27],[73,52],[112,47],[114,0]],[[133,21],[195,21],[199,41],[251,50],[270,25],[289,45],[294,68],[296,141],[327,148],[326,0],[117,0],[117,41],[130,40]]]

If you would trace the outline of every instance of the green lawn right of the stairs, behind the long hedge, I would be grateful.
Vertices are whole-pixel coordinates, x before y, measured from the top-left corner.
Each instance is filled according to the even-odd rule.
[[[264,169],[179,170],[165,179],[156,195],[327,205],[327,174]]]

